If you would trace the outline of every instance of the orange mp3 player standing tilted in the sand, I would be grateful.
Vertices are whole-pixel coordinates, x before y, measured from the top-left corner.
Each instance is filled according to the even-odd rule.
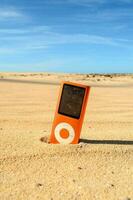
[[[61,84],[50,143],[78,143],[89,91],[89,86],[72,82]]]

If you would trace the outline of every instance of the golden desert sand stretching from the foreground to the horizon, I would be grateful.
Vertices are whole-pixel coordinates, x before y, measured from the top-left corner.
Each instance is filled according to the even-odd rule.
[[[91,85],[81,141],[48,143],[61,80]],[[1,200],[133,200],[133,75],[0,73]]]

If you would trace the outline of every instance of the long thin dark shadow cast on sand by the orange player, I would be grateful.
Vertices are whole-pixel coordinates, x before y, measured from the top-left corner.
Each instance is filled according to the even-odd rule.
[[[131,140],[88,140],[80,139],[79,142],[86,144],[116,144],[116,145],[133,145]]]

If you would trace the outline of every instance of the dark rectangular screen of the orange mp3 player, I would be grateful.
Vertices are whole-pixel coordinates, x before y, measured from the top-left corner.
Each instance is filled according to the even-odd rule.
[[[80,118],[85,88],[64,84],[58,113]]]

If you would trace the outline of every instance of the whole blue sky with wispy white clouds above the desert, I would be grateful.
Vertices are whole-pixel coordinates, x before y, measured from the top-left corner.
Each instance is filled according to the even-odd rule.
[[[133,1],[0,0],[0,71],[133,73]]]

